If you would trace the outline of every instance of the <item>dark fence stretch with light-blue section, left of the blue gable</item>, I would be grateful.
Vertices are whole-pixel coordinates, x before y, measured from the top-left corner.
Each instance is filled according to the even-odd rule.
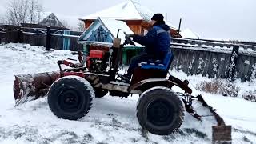
[[[10,28],[6,30],[4,28]],[[50,38],[50,48],[56,50],[82,50],[83,46],[78,44],[78,37],[82,32],[70,30],[50,29],[50,34],[47,34],[45,28],[31,28],[17,26],[0,26],[0,43],[1,42],[21,42],[28,43],[31,46],[45,46],[47,47],[47,37]],[[66,32],[68,32],[66,34]]]

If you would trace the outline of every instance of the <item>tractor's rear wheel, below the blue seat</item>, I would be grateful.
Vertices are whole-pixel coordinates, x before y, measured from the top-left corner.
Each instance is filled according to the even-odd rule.
[[[182,125],[184,110],[182,100],[173,90],[158,86],[142,93],[136,115],[142,129],[166,135]]]

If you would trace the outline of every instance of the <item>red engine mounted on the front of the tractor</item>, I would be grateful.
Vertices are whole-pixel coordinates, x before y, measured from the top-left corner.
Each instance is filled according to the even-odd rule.
[[[90,50],[86,57],[86,67],[93,73],[104,74],[110,57],[109,50]]]

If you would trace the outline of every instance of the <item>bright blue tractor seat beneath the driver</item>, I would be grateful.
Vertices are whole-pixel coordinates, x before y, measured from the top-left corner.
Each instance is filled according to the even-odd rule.
[[[161,60],[149,60],[149,62],[142,62],[139,64],[142,69],[157,69],[157,70],[167,70],[170,68],[170,63],[172,62],[174,55],[171,52],[167,53],[163,61]]]

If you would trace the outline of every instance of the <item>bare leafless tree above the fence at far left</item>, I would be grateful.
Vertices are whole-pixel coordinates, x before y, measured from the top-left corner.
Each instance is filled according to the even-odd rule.
[[[38,23],[43,8],[38,0],[11,0],[6,12],[8,24]]]

